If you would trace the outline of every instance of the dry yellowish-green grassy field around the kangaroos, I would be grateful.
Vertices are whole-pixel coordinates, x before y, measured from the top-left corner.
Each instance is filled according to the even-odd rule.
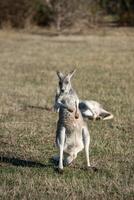
[[[56,172],[50,158],[57,114],[56,70],[76,68],[73,87],[81,99],[97,100],[114,119],[88,122],[85,154]],[[134,31],[89,36],[0,32],[0,199],[134,199]]]

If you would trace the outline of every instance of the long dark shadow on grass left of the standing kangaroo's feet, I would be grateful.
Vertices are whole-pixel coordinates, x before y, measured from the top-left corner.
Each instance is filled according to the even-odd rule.
[[[20,167],[39,167],[39,168],[49,168],[53,167],[52,164],[42,164],[37,161],[31,161],[31,160],[24,160],[20,158],[14,158],[14,157],[6,157],[6,156],[0,156],[0,163],[9,163],[14,166],[20,166]]]

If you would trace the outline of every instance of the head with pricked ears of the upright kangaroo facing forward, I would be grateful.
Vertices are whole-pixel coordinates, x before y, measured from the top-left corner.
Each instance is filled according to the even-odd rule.
[[[62,93],[68,93],[70,89],[72,88],[71,86],[71,78],[74,75],[76,70],[73,70],[67,75],[63,75],[61,72],[57,72],[57,76],[59,78],[59,88],[60,92]]]

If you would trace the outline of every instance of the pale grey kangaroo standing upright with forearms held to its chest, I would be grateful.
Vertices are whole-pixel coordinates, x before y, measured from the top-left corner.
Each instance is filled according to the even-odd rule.
[[[71,86],[71,78],[74,73],[75,71],[64,76],[61,72],[57,72],[60,92],[56,96],[55,107],[59,109],[56,131],[59,156],[53,159],[59,162],[59,171],[63,171],[63,159],[64,163],[69,165],[83,148],[85,148],[87,167],[90,167],[90,135],[79,110],[79,99]]]

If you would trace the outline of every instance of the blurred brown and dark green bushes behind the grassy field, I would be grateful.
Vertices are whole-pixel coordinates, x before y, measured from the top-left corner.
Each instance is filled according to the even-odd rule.
[[[133,26],[133,0],[4,0],[0,1],[0,26],[29,25],[65,28],[104,24]]]

